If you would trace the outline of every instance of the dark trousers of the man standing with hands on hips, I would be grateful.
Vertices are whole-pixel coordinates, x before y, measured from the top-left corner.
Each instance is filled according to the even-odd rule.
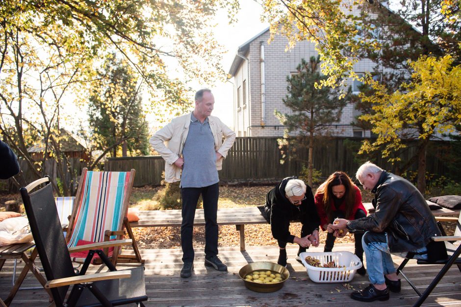
[[[192,233],[194,230],[195,209],[197,209],[197,202],[201,194],[205,214],[205,255],[218,255],[218,224],[216,223],[219,197],[218,183],[203,188],[181,188],[181,247],[183,262],[194,261]]]

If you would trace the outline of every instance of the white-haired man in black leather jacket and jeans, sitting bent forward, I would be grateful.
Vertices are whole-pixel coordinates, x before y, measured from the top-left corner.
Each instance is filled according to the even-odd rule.
[[[370,285],[351,297],[362,302],[385,301],[389,299],[388,290],[400,292],[401,288],[390,253],[443,259],[445,245],[432,242],[432,236],[441,236],[440,230],[423,195],[409,181],[370,162],[359,167],[356,177],[365,190],[375,194],[375,213],[356,220],[339,219],[328,231],[366,232],[362,246]]]

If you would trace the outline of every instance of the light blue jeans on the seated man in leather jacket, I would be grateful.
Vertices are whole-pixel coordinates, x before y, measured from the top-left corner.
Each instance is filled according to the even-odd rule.
[[[392,274],[397,271],[394,267],[387,242],[387,233],[373,233],[367,231],[362,237],[362,247],[366,257],[368,279],[372,284],[384,284],[384,275]],[[425,251],[427,251],[427,249],[423,247],[414,252],[421,253]],[[404,255],[399,256],[402,257]]]

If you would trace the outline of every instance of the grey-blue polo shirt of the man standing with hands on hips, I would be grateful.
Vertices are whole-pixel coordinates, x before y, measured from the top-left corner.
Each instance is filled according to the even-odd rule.
[[[204,122],[191,114],[189,132],[182,149],[181,188],[202,188],[219,182],[214,137],[208,118]]]

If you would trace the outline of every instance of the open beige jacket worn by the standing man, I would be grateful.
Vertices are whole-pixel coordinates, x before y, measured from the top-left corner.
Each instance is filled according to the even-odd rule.
[[[165,159],[166,182],[181,180],[181,169],[174,163],[182,155],[182,148],[189,133],[190,115],[191,113],[173,118],[169,124],[155,132],[149,140],[152,147]],[[214,149],[223,156],[216,161],[216,169],[220,170],[223,165],[223,158],[226,158],[227,152],[235,140],[235,132],[217,117],[208,116],[208,122],[214,137]],[[222,141],[223,136],[224,142]]]

